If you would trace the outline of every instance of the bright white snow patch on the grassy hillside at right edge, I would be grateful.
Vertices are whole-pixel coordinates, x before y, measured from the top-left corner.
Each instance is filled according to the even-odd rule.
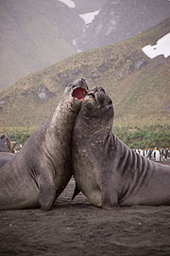
[[[159,55],[163,55],[164,58],[170,56],[170,33],[166,34],[165,36],[161,37],[156,43],[155,46],[144,46],[142,48],[143,52],[147,57],[150,59],[154,59]]]

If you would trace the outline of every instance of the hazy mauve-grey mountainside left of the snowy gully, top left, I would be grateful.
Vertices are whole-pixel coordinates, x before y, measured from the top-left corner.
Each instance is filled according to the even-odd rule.
[[[56,0],[0,0],[0,5],[1,86],[76,53],[72,38],[83,21],[75,9]]]

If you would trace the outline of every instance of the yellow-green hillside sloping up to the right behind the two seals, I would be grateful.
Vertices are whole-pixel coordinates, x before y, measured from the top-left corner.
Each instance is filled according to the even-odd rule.
[[[170,58],[150,60],[141,48],[169,32],[170,19],[111,46],[79,53],[27,76],[0,95],[0,127],[37,127],[50,117],[66,84],[86,77],[110,94],[117,126],[169,123]]]

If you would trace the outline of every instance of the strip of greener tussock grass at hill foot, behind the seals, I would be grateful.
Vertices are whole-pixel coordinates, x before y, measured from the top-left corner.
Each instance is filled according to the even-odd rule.
[[[37,127],[3,127],[0,135],[8,134],[17,144],[24,144]],[[114,134],[121,138],[129,148],[170,147],[170,125],[153,124],[139,126],[115,126]]]

